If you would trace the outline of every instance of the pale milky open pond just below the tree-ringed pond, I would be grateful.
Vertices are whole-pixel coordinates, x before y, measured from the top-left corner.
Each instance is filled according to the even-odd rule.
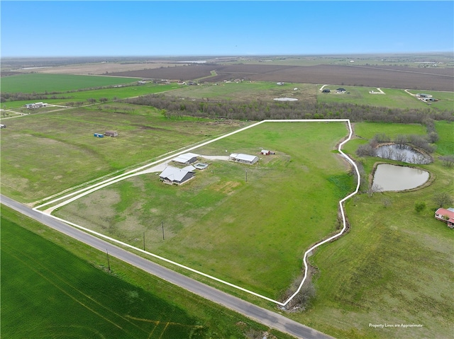
[[[410,190],[423,185],[428,178],[427,171],[381,163],[375,170],[372,187],[380,191]]]

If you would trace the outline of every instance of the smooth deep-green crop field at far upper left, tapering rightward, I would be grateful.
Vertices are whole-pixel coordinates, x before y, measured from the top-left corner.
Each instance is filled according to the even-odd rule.
[[[6,93],[48,93],[75,91],[83,88],[130,84],[135,78],[111,76],[87,76],[72,74],[28,73],[16,76],[2,76],[1,91]]]

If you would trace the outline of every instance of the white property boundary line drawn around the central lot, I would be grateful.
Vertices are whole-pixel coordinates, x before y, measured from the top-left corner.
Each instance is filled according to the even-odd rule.
[[[143,168],[147,168],[147,167],[149,167],[149,166],[152,166],[153,164],[161,163],[162,161],[166,161],[166,160],[172,159],[173,157],[175,157],[175,156],[177,156],[177,155],[179,155],[179,154],[184,154],[184,153],[186,153],[187,151],[192,151],[193,149],[199,148],[199,147],[201,147],[201,146],[205,146],[206,144],[210,144],[211,142],[216,142],[216,141],[218,141],[218,140],[220,140],[220,139],[223,139],[224,137],[229,137],[229,136],[231,136],[231,135],[233,135],[233,134],[236,134],[236,133],[238,133],[238,132],[242,132],[243,130],[247,130],[248,128],[251,128],[251,127],[255,127],[255,126],[257,126],[257,125],[260,125],[260,124],[262,124],[263,122],[347,122],[347,123],[348,123],[348,128],[349,128],[349,130],[350,130],[350,133],[349,133],[349,135],[348,135],[348,138],[345,139],[343,142],[341,142],[341,143],[339,144],[339,146],[338,146],[338,151],[339,151],[339,153],[341,153],[341,155],[342,155],[348,162],[350,162],[350,163],[353,165],[353,167],[355,168],[357,177],[358,177],[358,183],[357,183],[357,185],[356,185],[356,190],[355,190],[355,192],[351,193],[350,195],[348,195],[347,197],[344,197],[342,200],[339,201],[339,207],[341,208],[341,214],[342,214],[343,228],[341,229],[341,231],[340,231],[338,234],[335,234],[334,236],[331,236],[330,238],[328,238],[328,239],[326,239],[326,240],[324,240],[324,241],[321,241],[320,243],[317,243],[316,245],[312,246],[311,248],[309,248],[309,250],[307,250],[307,251],[304,253],[304,259],[303,259],[303,263],[304,263],[304,277],[303,277],[303,280],[301,280],[301,283],[300,283],[300,285],[299,285],[297,291],[294,292],[294,294],[292,294],[292,296],[289,297],[289,299],[287,299],[287,301],[280,302],[280,301],[277,301],[277,300],[274,300],[274,299],[270,299],[270,298],[268,298],[268,297],[265,297],[265,296],[263,296],[263,295],[261,295],[261,294],[255,293],[255,292],[250,291],[250,290],[248,290],[248,289],[245,289],[245,288],[243,288],[243,287],[240,287],[240,286],[231,284],[230,282],[226,282],[225,280],[221,280],[221,279],[218,279],[218,278],[213,277],[213,276],[211,276],[211,275],[207,275],[207,274],[204,273],[204,272],[200,272],[200,271],[198,271],[198,270],[194,270],[193,268],[189,268],[189,267],[184,266],[184,265],[182,265],[182,264],[180,264],[180,263],[176,263],[175,261],[169,260],[169,259],[167,259],[167,258],[163,258],[163,257],[161,257],[160,255],[156,255],[156,254],[154,254],[154,253],[150,253],[150,252],[144,251],[144,250],[142,250],[142,249],[140,249],[140,248],[136,248],[136,247],[134,247],[134,246],[132,246],[132,245],[129,245],[128,243],[123,243],[122,241],[118,241],[118,240],[113,239],[113,238],[111,238],[111,237],[109,237],[109,236],[105,236],[104,234],[100,234],[100,233],[98,233],[98,232],[96,232],[96,231],[92,231],[92,230],[87,229],[87,228],[85,228],[85,227],[83,227],[83,226],[74,224],[74,223],[72,223],[72,222],[68,222],[68,221],[65,220],[65,219],[60,219],[60,218],[55,217],[55,216],[53,216],[53,215],[50,214],[50,213],[53,211],[53,209],[55,209],[55,208],[57,208],[57,207],[61,207],[61,206],[63,206],[63,205],[66,205],[67,203],[70,203],[70,202],[72,202],[72,201],[74,201],[74,200],[77,200],[79,197],[82,197],[82,196],[84,196],[84,195],[87,195],[87,194],[89,194],[89,193],[92,193],[92,192],[94,192],[95,190],[99,190],[100,188],[104,188],[104,187],[106,187],[106,186],[108,186],[108,185],[111,185],[112,183],[117,183],[117,182],[120,181],[120,180],[123,180],[123,179],[126,179],[126,178],[131,178],[132,176],[137,176],[137,175],[140,174],[140,173],[137,173],[137,172],[140,171],[140,170],[142,170]],[[163,260],[163,261],[165,261],[166,263],[170,263],[170,264],[172,264],[172,265],[176,265],[177,267],[183,268],[184,270],[189,270],[190,272],[194,272],[194,273],[196,273],[196,274],[198,274],[198,275],[201,275],[201,276],[204,276],[204,277],[208,277],[208,278],[211,279],[211,280],[215,280],[215,281],[217,281],[217,282],[221,282],[221,283],[224,284],[224,285],[228,285],[228,286],[230,286],[230,287],[239,289],[240,291],[246,292],[246,293],[248,293],[248,294],[252,294],[252,295],[254,295],[255,297],[260,297],[261,299],[265,299],[265,300],[267,300],[267,301],[272,301],[273,303],[278,304],[279,306],[286,306],[286,305],[289,303],[289,301],[291,301],[291,300],[292,300],[292,299],[301,291],[301,287],[303,287],[304,282],[306,281],[307,272],[308,272],[307,255],[308,255],[311,251],[313,251],[315,248],[317,248],[317,247],[323,245],[323,243],[327,243],[328,241],[331,241],[331,240],[336,239],[336,238],[338,238],[339,236],[341,236],[341,235],[343,234],[343,232],[345,231],[345,229],[347,228],[347,226],[346,226],[346,221],[345,221],[345,212],[344,212],[344,209],[343,209],[343,202],[345,202],[345,200],[348,200],[350,197],[353,197],[353,195],[355,195],[356,193],[358,193],[358,190],[359,190],[359,188],[360,188],[360,172],[358,171],[358,167],[356,166],[355,162],[354,162],[352,159],[350,159],[350,158],[349,158],[345,153],[343,153],[343,151],[342,151],[342,146],[343,146],[343,144],[345,144],[346,142],[348,142],[348,141],[351,139],[352,135],[353,135],[353,129],[352,129],[352,127],[351,127],[350,120],[348,120],[348,119],[331,119],[331,120],[328,120],[328,119],[320,119],[320,120],[262,120],[262,121],[260,121],[260,122],[257,122],[257,123],[255,123],[255,124],[253,124],[253,125],[250,125],[250,126],[248,126],[248,127],[243,127],[243,128],[241,128],[240,130],[236,130],[235,132],[231,132],[231,133],[225,134],[225,135],[223,135],[223,136],[221,136],[221,137],[218,137],[218,138],[216,138],[216,139],[213,139],[213,140],[211,140],[211,141],[209,141],[209,142],[205,142],[205,143],[203,143],[203,144],[199,144],[199,145],[194,146],[194,147],[192,147],[192,148],[189,148],[189,149],[186,149],[186,150],[184,150],[184,151],[181,151],[181,152],[179,152],[178,154],[174,154],[174,155],[172,155],[172,156],[168,156],[168,157],[165,158],[165,159],[160,159],[159,161],[155,161],[155,162],[153,162],[153,163],[149,163],[148,165],[142,166],[142,167],[140,167],[140,168],[136,168],[135,170],[130,171],[130,172],[128,172],[128,173],[124,173],[124,174],[121,175],[121,176],[117,176],[117,177],[112,178],[112,179],[110,179],[110,180],[105,180],[104,182],[99,183],[99,184],[97,184],[97,185],[93,185],[93,186],[91,186],[91,188],[86,188],[86,189],[84,189],[84,190],[88,190],[87,192],[84,192],[84,193],[82,193],[82,194],[80,194],[80,195],[77,195],[76,197],[73,197],[73,198],[71,198],[70,200],[67,200],[67,201],[65,201],[65,202],[62,202],[62,203],[60,203],[59,205],[56,205],[55,207],[52,207],[52,208],[46,210],[45,212],[38,210],[38,208],[43,207],[43,206],[45,206],[45,205],[49,205],[49,204],[52,203],[52,202],[61,200],[62,198],[57,199],[57,200],[53,200],[52,202],[48,202],[48,203],[46,203],[46,204],[44,204],[44,205],[40,205],[40,206],[35,207],[35,208],[33,208],[33,209],[34,209],[35,211],[40,212],[40,213],[48,214],[50,217],[52,217],[52,218],[54,218],[54,219],[57,219],[57,220],[60,220],[60,222],[65,222],[66,224],[69,224],[69,225],[71,225],[71,226],[77,227],[77,228],[82,229],[82,230],[84,230],[84,231],[87,231],[87,232],[89,232],[89,233],[95,234],[96,236],[100,236],[101,238],[108,239],[109,241],[113,241],[114,243],[118,243],[118,244],[121,244],[122,246],[126,246],[126,247],[128,247],[128,248],[132,248],[132,249],[134,249],[135,251],[140,251],[140,252],[145,253],[145,254],[147,254],[147,255],[153,256],[154,258]],[[83,190],[79,190],[77,193],[82,192],[82,191],[83,191]],[[73,193],[72,195],[77,194],[77,193]]]

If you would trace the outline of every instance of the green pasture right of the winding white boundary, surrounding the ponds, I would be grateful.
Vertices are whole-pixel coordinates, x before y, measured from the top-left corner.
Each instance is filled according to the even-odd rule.
[[[392,126],[396,134],[418,132],[416,125],[374,125],[357,123],[356,134],[393,134]],[[441,140],[446,133],[452,136],[446,128],[450,124],[440,126]],[[367,174],[377,161],[365,159]],[[316,301],[308,312],[292,317],[336,338],[451,337],[453,230],[434,219],[433,195],[454,196],[453,170],[438,160],[419,167],[435,178],[432,185],[405,193],[357,195],[346,204],[350,231],[311,257],[320,272],[314,280]],[[416,212],[415,202],[424,202],[426,209]],[[372,328],[370,323],[422,327]]]

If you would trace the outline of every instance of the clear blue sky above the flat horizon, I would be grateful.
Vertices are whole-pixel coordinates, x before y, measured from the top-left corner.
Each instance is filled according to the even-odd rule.
[[[1,57],[453,52],[454,1],[1,1]]]

